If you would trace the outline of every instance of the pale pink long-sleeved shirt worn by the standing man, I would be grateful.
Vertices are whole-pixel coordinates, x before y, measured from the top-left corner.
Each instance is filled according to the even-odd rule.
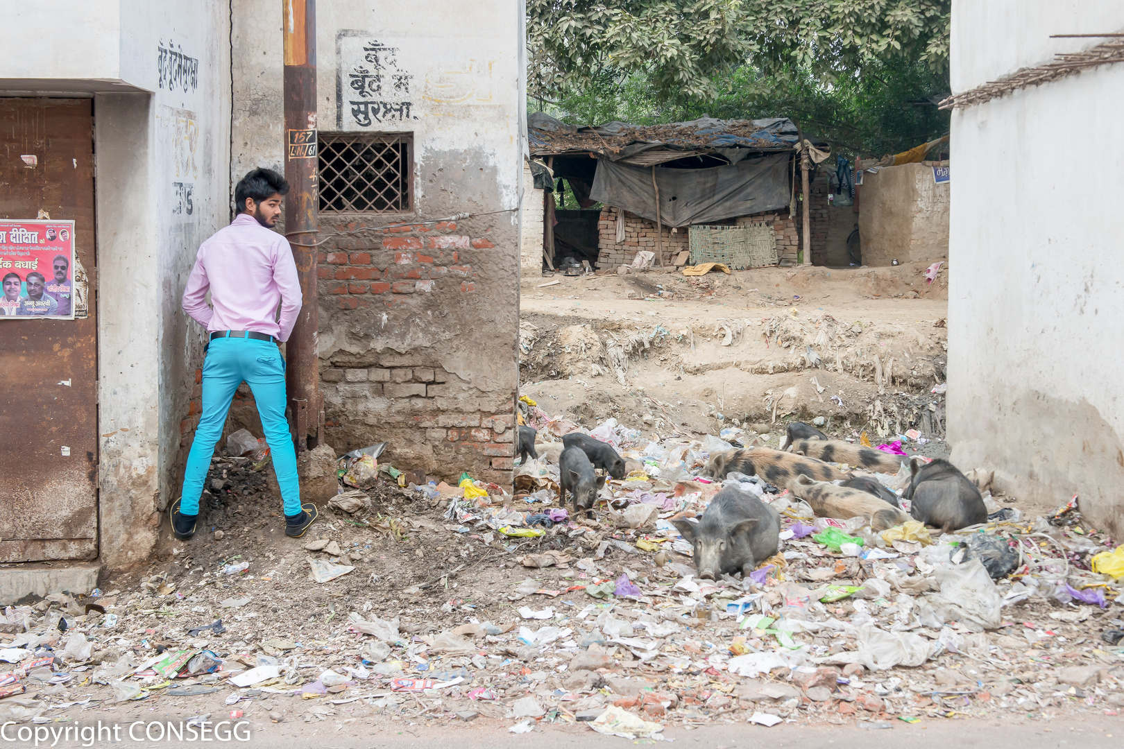
[[[214,309],[207,307],[208,289]],[[255,330],[289,340],[300,303],[289,243],[248,213],[200,245],[183,290],[183,310],[208,332]]]

